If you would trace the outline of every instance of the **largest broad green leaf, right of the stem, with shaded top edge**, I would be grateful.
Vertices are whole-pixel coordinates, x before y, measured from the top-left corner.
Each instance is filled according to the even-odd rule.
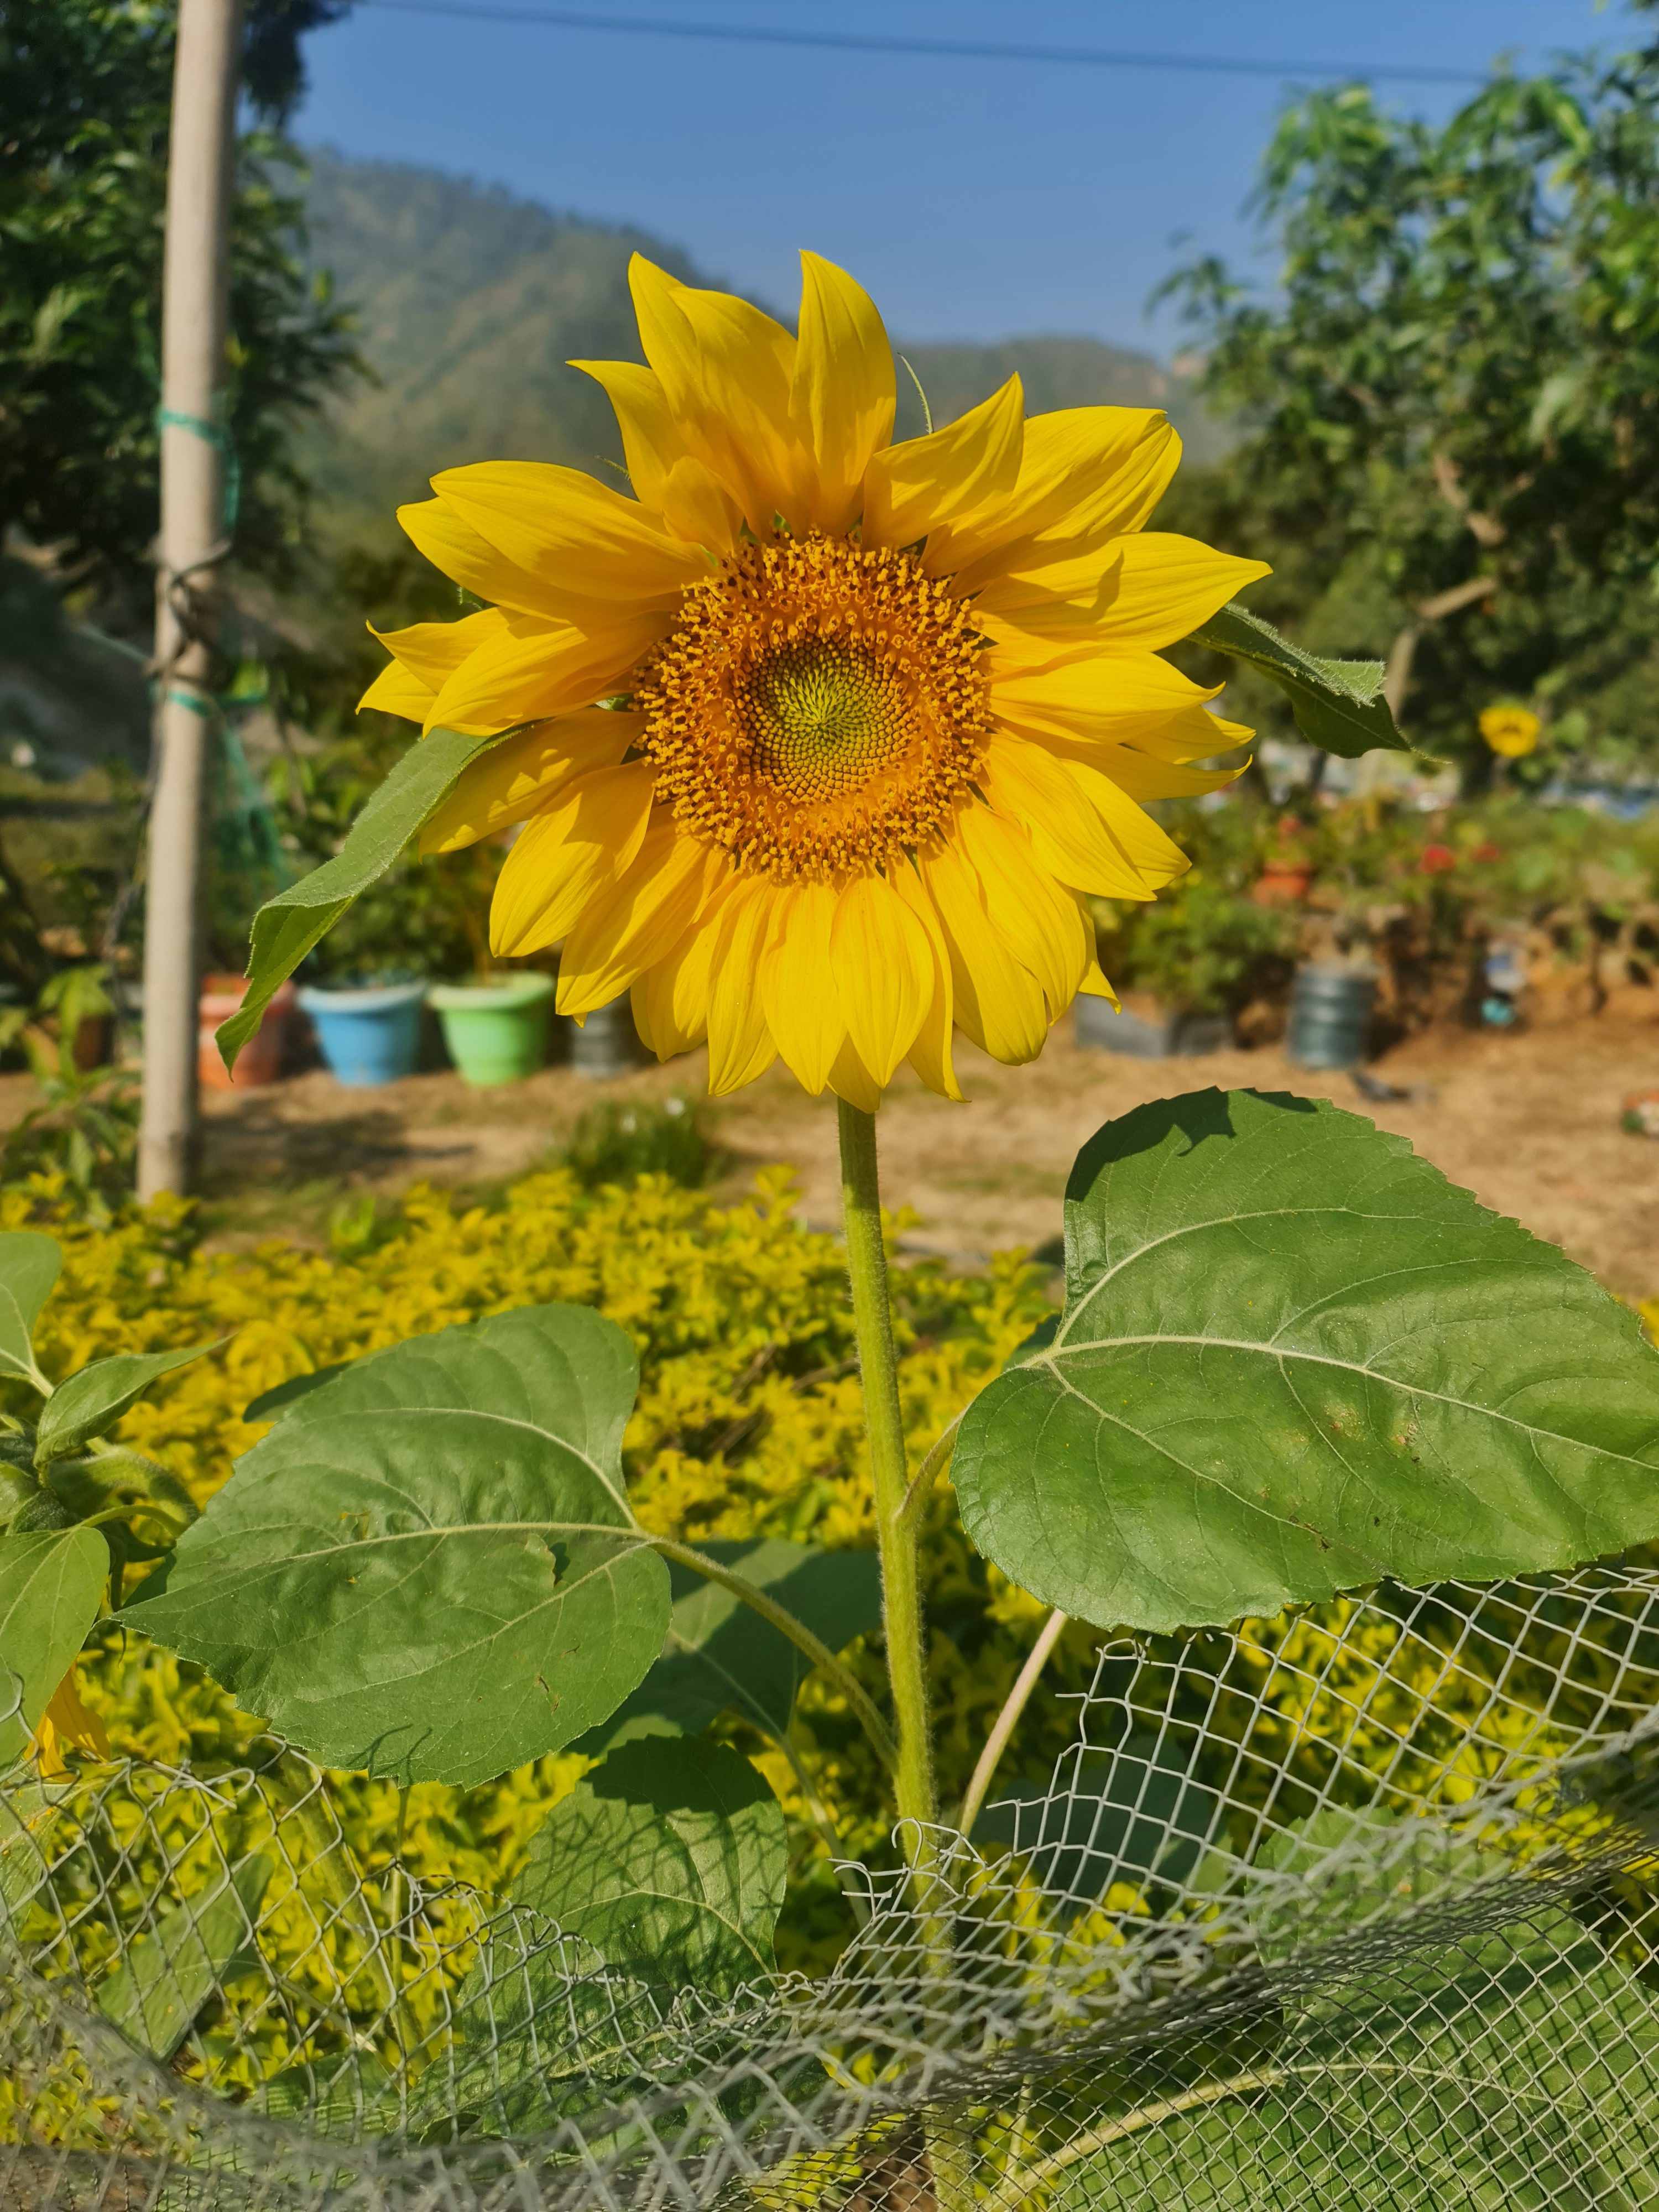
[[[987,1557],[1102,1626],[1489,1582],[1659,1535],[1659,1354],[1405,1137],[1194,1091],[1077,1155],[1064,1318],[951,1478]]]

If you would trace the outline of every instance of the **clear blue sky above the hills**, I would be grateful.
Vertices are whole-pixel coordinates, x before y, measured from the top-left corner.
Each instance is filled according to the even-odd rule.
[[[1088,332],[1170,352],[1179,332],[1146,321],[1146,294],[1186,252],[1252,252],[1241,204],[1290,82],[641,38],[449,4],[478,20],[361,4],[314,33],[296,135],[641,223],[790,310],[794,252],[812,246],[909,338]],[[1626,24],[1621,0],[586,0],[586,13],[1469,71],[1504,51],[1526,66],[1617,44]],[[1425,115],[1464,97],[1378,88]]]

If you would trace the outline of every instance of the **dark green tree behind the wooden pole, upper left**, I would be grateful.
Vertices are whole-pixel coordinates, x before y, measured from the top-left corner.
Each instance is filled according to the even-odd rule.
[[[259,0],[246,86],[265,119],[301,88],[299,33],[341,0]],[[60,580],[150,613],[157,524],[161,215],[173,88],[168,0],[7,0],[0,11],[0,529]],[[294,420],[352,367],[345,316],[296,254],[294,153],[241,142],[228,436],[237,560],[292,566]],[[119,617],[117,617],[119,619]]]

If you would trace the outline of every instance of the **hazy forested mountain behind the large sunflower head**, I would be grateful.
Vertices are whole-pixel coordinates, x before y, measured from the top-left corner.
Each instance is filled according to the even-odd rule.
[[[323,526],[354,535],[427,478],[465,460],[622,462],[611,407],[571,358],[639,361],[628,257],[719,283],[644,230],[555,215],[436,170],[312,153],[310,252],[356,307],[374,383],[343,394],[305,436]],[[987,307],[993,312],[993,301]],[[1026,407],[1168,407],[1197,449],[1217,451],[1179,376],[1097,338],[898,345],[933,422],[973,407],[1015,369]],[[898,434],[922,429],[900,369]]]

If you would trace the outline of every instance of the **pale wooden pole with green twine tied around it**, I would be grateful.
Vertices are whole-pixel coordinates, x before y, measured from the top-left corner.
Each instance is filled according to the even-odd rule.
[[[161,281],[157,779],[144,909],[142,1199],[188,1190],[197,1157],[201,838],[212,759],[212,617],[226,553],[221,418],[241,0],[179,0]]]

